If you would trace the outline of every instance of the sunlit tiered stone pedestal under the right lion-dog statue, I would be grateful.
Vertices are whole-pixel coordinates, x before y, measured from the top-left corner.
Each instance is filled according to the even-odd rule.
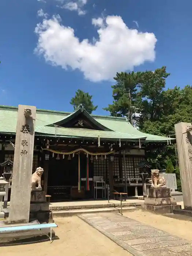
[[[171,196],[170,188],[150,188],[148,197],[144,199],[144,208],[158,213],[171,213],[180,209],[176,199]]]

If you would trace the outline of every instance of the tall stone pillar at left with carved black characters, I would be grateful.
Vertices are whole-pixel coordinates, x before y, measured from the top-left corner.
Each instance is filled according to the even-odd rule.
[[[10,211],[7,223],[29,222],[36,107],[18,106]]]

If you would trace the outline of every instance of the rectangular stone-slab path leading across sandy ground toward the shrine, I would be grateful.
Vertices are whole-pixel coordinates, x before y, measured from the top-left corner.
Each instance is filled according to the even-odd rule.
[[[79,215],[135,256],[192,256],[192,243],[117,213]]]

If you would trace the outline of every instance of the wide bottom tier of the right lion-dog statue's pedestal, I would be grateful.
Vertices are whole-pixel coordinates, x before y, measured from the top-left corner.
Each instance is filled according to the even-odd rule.
[[[181,209],[180,205],[154,206],[150,204],[144,204],[143,207],[145,210],[153,211],[155,213],[160,213],[160,214],[173,213],[174,210]]]

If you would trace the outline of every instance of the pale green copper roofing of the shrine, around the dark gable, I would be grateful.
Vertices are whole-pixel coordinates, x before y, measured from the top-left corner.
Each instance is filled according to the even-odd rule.
[[[17,123],[17,108],[0,106],[0,133],[15,133]],[[50,124],[60,123],[64,118],[71,116],[71,113],[37,109],[35,132],[45,135],[57,135],[66,137],[84,137],[105,139],[125,139],[125,140],[145,140],[150,142],[166,142],[167,137],[150,135],[138,131],[126,121],[124,117],[96,116],[95,123],[105,127],[104,131],[84,129],[84,128],[60,128],[52,127]]]

